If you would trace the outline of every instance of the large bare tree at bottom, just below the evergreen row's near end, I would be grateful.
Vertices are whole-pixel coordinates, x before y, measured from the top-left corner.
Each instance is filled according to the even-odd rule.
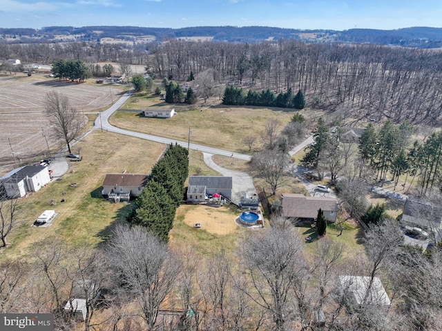
[[[146,330],[155,330],[160,305],[180,274],[179,261],[165,243],[138,226],[118,226],[106,254],[120,285],[137,299]]]

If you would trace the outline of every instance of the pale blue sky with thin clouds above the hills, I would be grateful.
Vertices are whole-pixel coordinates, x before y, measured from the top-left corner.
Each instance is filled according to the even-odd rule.
[[[0,0],[0,28],[275,26],[442,27],[442,0]]]

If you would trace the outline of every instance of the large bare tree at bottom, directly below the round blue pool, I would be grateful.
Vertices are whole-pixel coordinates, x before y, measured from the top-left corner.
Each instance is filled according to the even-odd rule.
[[[292,229],[270,228],[253,233],[240,254],[251,285],[247,296],[271,315],[273,330],[285,330],[294,318],[294,285],[305,270],[300,238]]]

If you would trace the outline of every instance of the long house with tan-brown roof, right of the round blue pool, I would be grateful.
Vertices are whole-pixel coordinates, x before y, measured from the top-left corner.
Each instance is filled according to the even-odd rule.
[[[282,215],[296,225],[316,222],[319,208],[329,222],[336,221],[338,203],[335,198],[305,197],[302,194],[282,194]]]

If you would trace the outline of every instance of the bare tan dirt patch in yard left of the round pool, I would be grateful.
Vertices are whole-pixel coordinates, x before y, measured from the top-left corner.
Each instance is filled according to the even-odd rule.
[[[191,227],[200,223],[201,228],[195,230],[205,230],[211,234],[231,234],[239,226],[235,222],[236,216],[225,207],[181,205],[177,210],[177,216],[184,217],[184,223]]]

